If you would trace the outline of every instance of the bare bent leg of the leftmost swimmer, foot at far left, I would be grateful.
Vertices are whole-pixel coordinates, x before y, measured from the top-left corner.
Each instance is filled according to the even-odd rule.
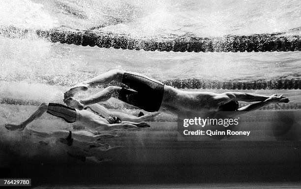
[[[30,124],[33,120],[41,117],[48,109],[48,105],[46,103],[42,103],[38,109],[24,122],[20,124],[6,124],[5,128],[8,130],[24,130],[24,128]]]

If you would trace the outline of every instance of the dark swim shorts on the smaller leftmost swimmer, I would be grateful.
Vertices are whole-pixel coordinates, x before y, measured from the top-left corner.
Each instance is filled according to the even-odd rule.
[[[76,121],[76,110],[62,104],[49,103],[47,113],[62,118],[67,123],[73,123]]]

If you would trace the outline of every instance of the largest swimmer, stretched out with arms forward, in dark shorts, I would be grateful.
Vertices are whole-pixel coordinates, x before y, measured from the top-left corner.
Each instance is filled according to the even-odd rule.
[[[79,91],[86,91],[96,85],[105,85],[113,80],[125,84],[130,89],[110,86],[85,99],[73,98]],[[238,101],[264,102],[271,96],[241,92],[222,94],[187,92],[164,85],[139,73],[111,70],[71,88],[64,94],[64,102],[68,106],[81,110],[90,104],[103,102],[111,97],[148,112],[166,112],[176,116],[179,111],[248,111],[249,106],[239,109]],[[273,95],[272,102],[287,103],[289,99],[283,95]]]

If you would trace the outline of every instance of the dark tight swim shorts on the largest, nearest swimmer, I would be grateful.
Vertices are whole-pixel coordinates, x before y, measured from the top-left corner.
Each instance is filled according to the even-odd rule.
[[[160,109],[163,83],[131,72],[125,72],[121,82],[135,91],[122,88],[118,96],[120,100],[148,112],[156,112]]]

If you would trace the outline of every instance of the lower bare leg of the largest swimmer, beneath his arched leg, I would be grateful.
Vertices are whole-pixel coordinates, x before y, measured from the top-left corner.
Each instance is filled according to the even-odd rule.
[[[120,90],[121,87],[110,86],[96,93],[95,95],[89,96],[88,98],[82,100],[76,100],[72,97],[69,97],[67,99],[64,99],[64,102],[70,107],[76,108],[78,110],[82,110],[87,105],[95,104],[97,102],[103,102],[110,99],[111,97],[118,98]]]

